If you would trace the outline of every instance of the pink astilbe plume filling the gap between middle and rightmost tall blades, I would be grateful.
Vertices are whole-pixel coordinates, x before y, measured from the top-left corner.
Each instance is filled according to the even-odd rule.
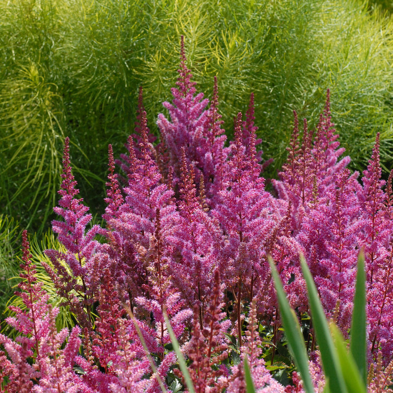
[[[348,169],[334,176],[326,202],[317,201],[297,236],[328,317],[336,317],[347,336],[352,317],[358,258],[356,222],[359,204],[357,173]]]

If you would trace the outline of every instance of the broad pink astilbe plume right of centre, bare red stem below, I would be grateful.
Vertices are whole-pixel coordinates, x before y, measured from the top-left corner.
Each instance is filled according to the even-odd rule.
[[[265,245],[275,230],[277,216],[272,196],[265,191],[260,165],[256,161],[255,134],[251,136],[250,154],[245,154],[241,113],[235,123],[235,140],[227,163],[225,188],[212,215],[220,223],[225,247],[225,276],[228,288],[236,292],[237,335],[241,344],[242,299],[253,298],[255,288],[269,276]],[[236,289],[235,289],[236,288]]]

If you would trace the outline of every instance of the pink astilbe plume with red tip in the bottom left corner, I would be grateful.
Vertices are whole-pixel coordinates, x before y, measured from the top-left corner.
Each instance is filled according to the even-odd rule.
[[[0,344],[8,354],[0,355],[1,392],[8,393],[76,393],[84,389],[81,378],[75,374],[73,366],[81,345],[79,327],[75,327],[68,337],[67,329],[56,331],[58,309],[49,304],[49,296],[36,277],[36,268],[31,263],[27,232],[23,232],[22,273],[16,292],[26,309],[10,307],[16,313],[8,317],[7,323],[19,335],[15,341],[0,334]],[[64,341],[68,342],[64,345]],[[5,390],[3,390],[3,388]],[[86,391],[87,392],[87,391]]]

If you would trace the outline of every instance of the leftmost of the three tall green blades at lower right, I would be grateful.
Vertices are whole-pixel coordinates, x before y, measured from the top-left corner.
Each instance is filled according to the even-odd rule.
[[[277,272],[276,266],[271,258],[269,258],[269,264],[277,291],[281,321],[284,327],[285,336],[288,340],[289,349],[293,356],[296,368],[302,377],[304,390],[306,393],[314,393],[314,386],[309,374],[309,358],[307,356],[306,345],[300,330],[299,321],[296,318],[295,312],[289,306],[279,273]]]

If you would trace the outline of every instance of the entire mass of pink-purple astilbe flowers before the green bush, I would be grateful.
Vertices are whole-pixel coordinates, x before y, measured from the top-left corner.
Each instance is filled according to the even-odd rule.
[[[127,153],[115,160],[109,145],[105,226],[90,225],[65,139],[55,209],[61,220],[53,222],[63,251],[47,250],[51,263],[42,264],[75,327],[56,330],[59,310],[37,277],[24,232],[17,293],[24,307],[12,308],[15,316],[7,318],[16,338],[0,334],[0,392],[186,391],[165,314],[196,392],[245,392],[246,357],[257,392],[302,392],[299,376],[278,353],[282,330],[268,255],[305,324],[318,392],[323,373],[299,255],[308,261],[327,316],[348,337],[361,248],[369,389],[382,392],[393,361],[393,174],[385,185],[379,135],[359,180],[347,168],[349,157],[341,158],[328,92],[315,130],[304,120],[301,132],[294,113],[273,196],[261,176],[269,162],[257,151],[253,95],[226,145],[217,79],[209,105],[186,66],[183,40],[176,84],[172,103],[164,103],[170,118],[158,116],[158,144],[140,90]],[[275,370],[285,367],[292,378],[280,383]]]

